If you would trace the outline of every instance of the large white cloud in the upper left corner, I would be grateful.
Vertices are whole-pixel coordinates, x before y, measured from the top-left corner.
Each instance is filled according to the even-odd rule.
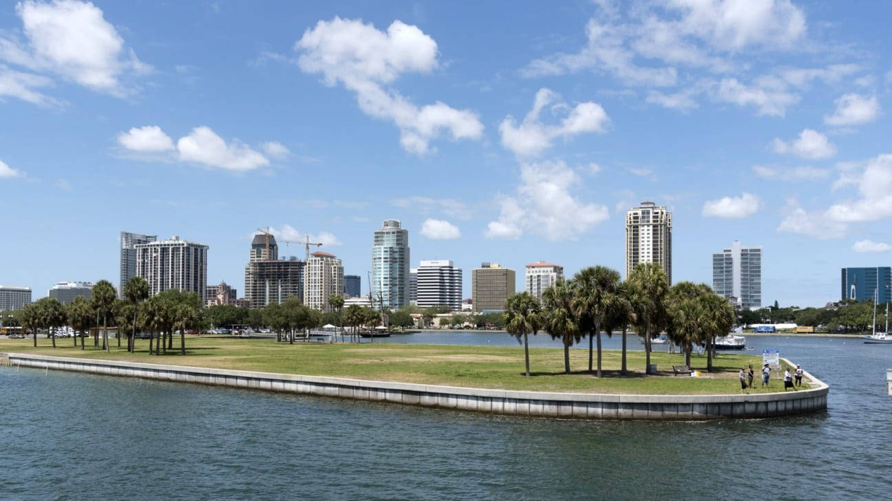
[[[125,48],[124,39],[94,4],[28,0],[16,5],[16,13],[27,41],[0,37],[0,59],[6,62],[118,96],[131,92],[121,78],[151,70]]]

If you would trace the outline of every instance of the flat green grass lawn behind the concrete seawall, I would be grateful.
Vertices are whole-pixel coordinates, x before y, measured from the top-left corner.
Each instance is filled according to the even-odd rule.
[[[570,391],[590,393],[705,394],[738,393],[738,371],[752,364],[756,368],[753,393],[783,391],[783,382],[772,374],[771,386],[759,388],[759,366],[762,357],[720,353],[714,359],[715,372],[706,374],[706,357],[691,357],[691,368],[703,370],[702,377],[673,376],[672,365],[682,365],[684,357],[665,352],[651,354],[658,375],[645,375],[643,351],[628,352],[630,374],[619,374],[622,354],[605,350],[605,377],[598,379],[587,373],[588,350],[570,350],[572,374],[564,374],[562,349],[531,348],[530,371],[524,377],[522,347],[457,346],[385,343],[303,343],[293,345],[268,340],[186,338],[186,355],[179,355],[179,339],[174,339],[169,355],[150,356],[148,341],[136,341],[136,353],[112,346],[110,353],[93,348],[74,348],[70,339],[38,339],[37,348],[31,339],[0,340],[0,351],[37,353],[57,357],[104,358],[169,365],[194,365],[221,369],[262,371],[268,373],[305,374],[351,377],[357,379],[417,382],[451,386],[471,386],[505,390]],[[116,345],[115,340],[110,340]],[[125,341],[126,344],[126,341]],[[597,356],[597,354],[596,354]],[[596,359],[597,364],[597,359]]]

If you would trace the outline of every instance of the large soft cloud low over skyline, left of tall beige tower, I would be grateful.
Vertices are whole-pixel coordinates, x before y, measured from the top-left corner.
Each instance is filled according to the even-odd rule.
[[[500,215],[487,226],[488,238],[519,238],[524,232],[550,241],[575,240],[609,218],[607,207],[574,198],[570,190],[582,180],[563,161],[521,166],[515,197],[499,198]]]

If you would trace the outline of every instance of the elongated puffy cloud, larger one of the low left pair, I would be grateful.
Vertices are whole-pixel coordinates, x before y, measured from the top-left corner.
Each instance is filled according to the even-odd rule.
[[[195,127],[177,142],[179,159],[227,170],[251,170],[269,164],[260,152],[235,140],[229,144],[211,127]]]

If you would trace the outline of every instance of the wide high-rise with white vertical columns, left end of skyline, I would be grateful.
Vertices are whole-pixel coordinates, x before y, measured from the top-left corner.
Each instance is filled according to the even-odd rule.
[[[195,292],[201,304],[208,285],[208,246],[180,240],[137,243],[136,276],[149,283],[149,295],[169,289]]]

